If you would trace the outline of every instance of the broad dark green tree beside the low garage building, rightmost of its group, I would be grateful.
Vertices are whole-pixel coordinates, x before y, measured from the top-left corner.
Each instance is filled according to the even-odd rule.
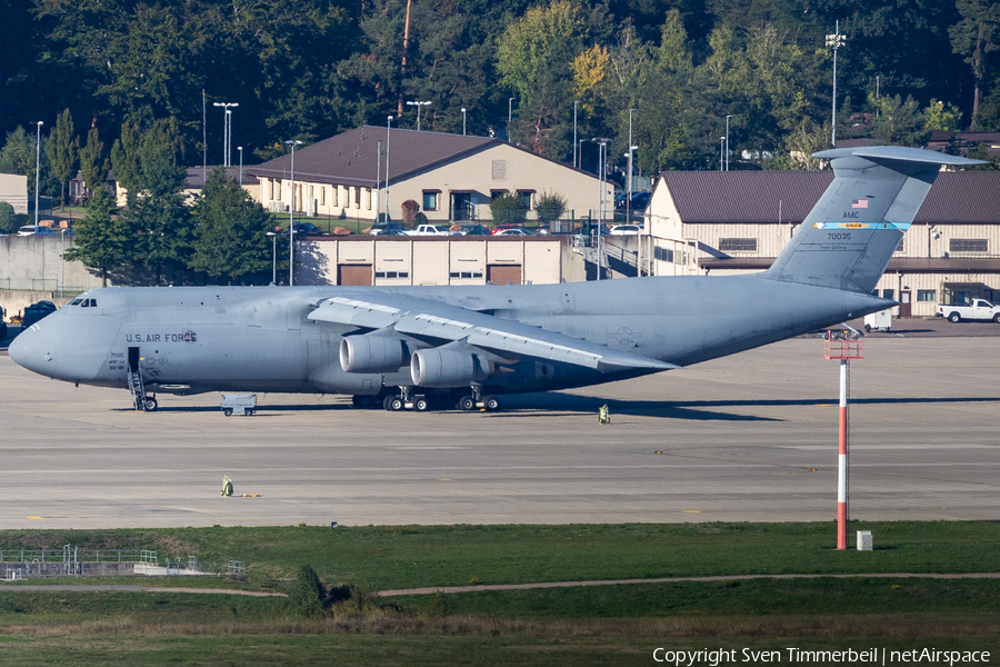
[[[271,277],[271,218],[250,195],[214,169],[194,202],[193,251],[188,267],[213,278]]]

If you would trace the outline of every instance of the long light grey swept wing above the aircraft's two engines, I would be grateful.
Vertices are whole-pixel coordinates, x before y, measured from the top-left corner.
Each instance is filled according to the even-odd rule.
[[[378,300],[333,297],[321,301],[308,317],[314,321],[366,329],[391,328],[420,338],[464,340],[471,346],[497,352],[563,361],[601,372],[629,368],[680,368],[516,320],[409,296],[379,295]]]

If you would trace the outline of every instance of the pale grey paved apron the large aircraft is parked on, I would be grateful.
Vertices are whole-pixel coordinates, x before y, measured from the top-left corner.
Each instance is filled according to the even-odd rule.
[[[1000,519],[998,341],[899,332],[851,365],[852,518]],[[833,520],[838,378],[798,338],[502,412],[261,395],[227,418],[0,357],[0,507],[7,528]]]

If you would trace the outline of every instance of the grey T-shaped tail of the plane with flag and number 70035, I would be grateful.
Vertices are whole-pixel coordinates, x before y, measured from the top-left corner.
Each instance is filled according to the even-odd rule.
[[[784,282],[871,293],[910,228],[941,165],[982,165],[917,148],[874,146],[814,153],[833,182],[771,268]]]

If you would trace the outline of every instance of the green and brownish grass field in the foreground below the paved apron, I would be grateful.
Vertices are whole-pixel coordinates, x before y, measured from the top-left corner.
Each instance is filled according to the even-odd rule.
[[[321,617],[304,618],[294,597],[30,591],[7,584],[0,664],[650,665],[656,647],[789,646],[1000,656],[1000,579],[851,576],[367,595],[470,583],[1000,571],[997,524],[857,528],[873,531],[874,551],[837,551],[832,524],[0,531],[0,548],[148,548],[182,561],[194,555],[248,564],[246,580],[118,583],[294,594],[296,574],[308,564],[328,587],[354,587]],[[788,656],[783,663],[794,664]]]

